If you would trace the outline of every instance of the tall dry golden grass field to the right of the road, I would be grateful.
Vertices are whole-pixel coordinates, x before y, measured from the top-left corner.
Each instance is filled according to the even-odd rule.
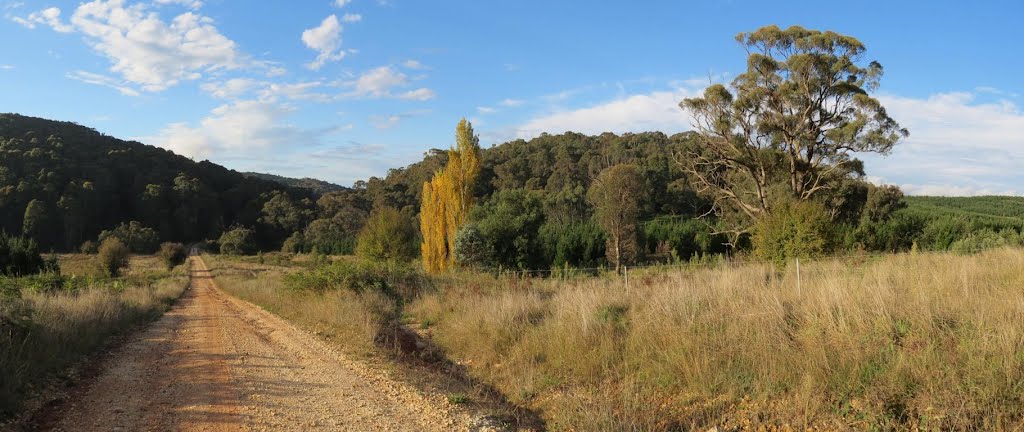
[[[463,278],[408,310],[554,429],[1024,427],[1024,251]]]

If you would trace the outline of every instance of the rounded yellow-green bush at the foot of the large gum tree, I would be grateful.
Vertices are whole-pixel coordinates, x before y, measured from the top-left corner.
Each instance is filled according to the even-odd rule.
[[[815,202],[786,201],[754,226],[754,252],[761,259],[784,263],[825,253],[833,239],[830,220]]]

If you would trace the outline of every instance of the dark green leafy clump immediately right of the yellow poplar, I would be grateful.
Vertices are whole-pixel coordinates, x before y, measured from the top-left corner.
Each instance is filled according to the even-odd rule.
[[[499,190],[477,206],[471,219],[476,223],[494,264],[505,268],[540,268],[544,251],[539,239],[544,224],[541,193],[525,189]]]

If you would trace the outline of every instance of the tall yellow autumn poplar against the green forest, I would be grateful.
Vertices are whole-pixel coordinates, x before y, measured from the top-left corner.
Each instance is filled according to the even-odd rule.
[[[480,141],[473,125],[462,119],[456,127],[456,145],[447,165],[423,183],[420,230],[423,267],[440,272],[455,264],[455,234],[466,223],[473,206],[473,186],[480,174]]]

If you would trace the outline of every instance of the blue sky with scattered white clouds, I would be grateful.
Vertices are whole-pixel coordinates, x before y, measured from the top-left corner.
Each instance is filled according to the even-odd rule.
[[[910,131],[868,178],[1024,195],[1024,2],[0,0],[0,112],[349,185],[454,141],[689,130],[735,35],[858,38]],[[1015,48],[1016,47],[1016,48]]]

